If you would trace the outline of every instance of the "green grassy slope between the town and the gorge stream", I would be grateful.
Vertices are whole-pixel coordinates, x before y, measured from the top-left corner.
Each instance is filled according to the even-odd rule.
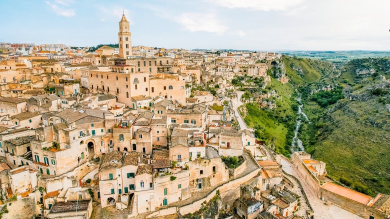
[[[256,98],[254,102],[247,103],[241,111],[248,126],[255,129],[257,138],[265,140],[275,151],[290,156],[298,110],[294,86],[304,86],[318,80],[325,72],[332,71],[333,65],[320,60],[288,56],[283,56],[281,60],[272,61],[270,64],[272,67],[267,72],[270,80],[265,88],[245,90],[254,98],[257,97],[257,93],[265,94],[266,100],[274,101],[275,104],[264,106],[261,103],[264,98],[260,100]],[[248,81],[245,78],[239,80]]]

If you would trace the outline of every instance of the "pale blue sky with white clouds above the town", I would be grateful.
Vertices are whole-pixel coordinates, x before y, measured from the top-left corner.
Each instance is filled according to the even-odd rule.
[[[390,0],[0,0],[0,42],[390,50]]]

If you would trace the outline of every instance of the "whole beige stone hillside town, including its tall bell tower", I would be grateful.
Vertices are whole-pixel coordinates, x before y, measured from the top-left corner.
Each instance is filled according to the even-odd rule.
[[[117,41],[0,43],[2,218],[390,217],[390,195],[245,123],[254,99],[235,84],[265,88],[282,54],[132,46],[124,13]]]

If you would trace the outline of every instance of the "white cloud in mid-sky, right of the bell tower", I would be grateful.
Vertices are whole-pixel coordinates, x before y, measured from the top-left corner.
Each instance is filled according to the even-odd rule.
[[[183,13],[174,18],[175,22],[180,23],[185,29],[196,32],[215,32],[223,33],[228,27],[223,25],[214,13]]]

